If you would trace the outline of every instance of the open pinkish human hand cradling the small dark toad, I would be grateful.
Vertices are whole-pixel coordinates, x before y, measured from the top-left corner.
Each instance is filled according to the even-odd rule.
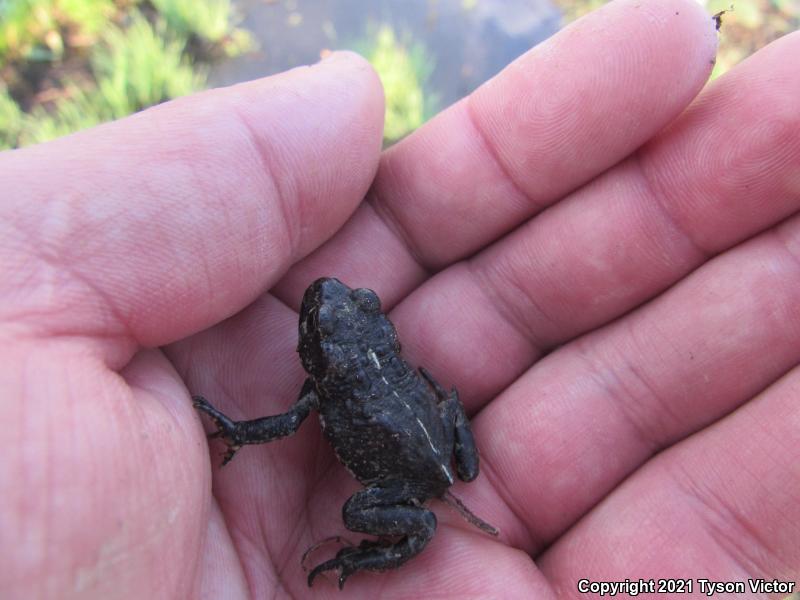
[[[459,389],[454,492],[501,530],[434,503],[347,597],[795,581],[800,36],[703,89],[715,46],[694,0],[621,2],[383,154],[337,54],[0,155],[0,597],[344,597],[300,565],[359,539],[316,419],[220,470],[190,401],[286,410],[320,275]]]

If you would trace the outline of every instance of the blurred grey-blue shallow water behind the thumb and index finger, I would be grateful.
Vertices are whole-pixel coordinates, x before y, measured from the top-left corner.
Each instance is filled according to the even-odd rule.
[[[227,85],[319,60],[325,49],[358,47],[381,24],[421,42],[434,63],[426,92],[452,104],[553,34],[561,14],[546,0],[239,0],[260,50],[217,65]]]

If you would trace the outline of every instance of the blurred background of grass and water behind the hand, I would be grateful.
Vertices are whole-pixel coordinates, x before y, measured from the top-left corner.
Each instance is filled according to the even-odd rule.
[[[722,10],[718,76],[798,28],[800,0]],[[354,48],[399,140],[605,0],[0,0],[0,149]]]

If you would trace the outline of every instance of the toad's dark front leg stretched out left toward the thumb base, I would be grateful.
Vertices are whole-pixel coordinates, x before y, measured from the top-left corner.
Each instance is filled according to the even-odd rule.
[[[292,435],[311,412],[311,409],[319,406],[317,393],[314,391],[314,384],[310,379],[303,384],[300,398],[288,411],[280,415],[251,421],[234,421],[228,418],[202,396],[192,396],[192,402],[197,410],[209,415],[217,426],[217,431],[208,437],[222,438],[228,446],[222,461],[223,466],[228,464],[236,451],[245,444],[263,444]]]

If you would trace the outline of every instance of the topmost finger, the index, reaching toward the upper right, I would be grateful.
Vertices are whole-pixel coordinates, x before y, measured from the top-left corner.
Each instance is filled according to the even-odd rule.
[[[337,264],[395,304],[655,135],[700,91],[716,45],[694,0],[587,15],[385,152],[370,202],[277,293],[300,298]]]

